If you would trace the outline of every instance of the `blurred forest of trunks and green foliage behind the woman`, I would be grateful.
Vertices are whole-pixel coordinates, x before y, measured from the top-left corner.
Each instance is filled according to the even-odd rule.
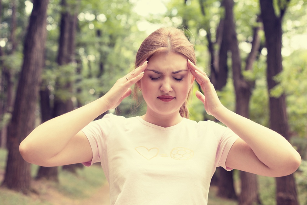
[[[225,106],[281,133],[303,159],[293,175],[265,185],[274,189],[267,197],[257,175],[218,168],[217,196],[241,205],[307,204],[303,0],[0,0],[0,146],[6,153],[0,192],[29,194],[33,178],[59,181],[58,167],[39,167],[33,176],[20,142],[41,122],[103,96],[133,69],[141,42],[161,26],[185,29],[197,66],[210,74]],[[144,108],[127,98],[110,112],[132,116]],[[190,112],[193,120],[214,120],[195,96]]]

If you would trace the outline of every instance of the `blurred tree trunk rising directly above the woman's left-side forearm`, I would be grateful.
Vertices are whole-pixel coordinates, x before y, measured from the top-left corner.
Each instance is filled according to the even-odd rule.
[[[76,29],[77,29],[77,14],[79,12],[80,0],[70,2],[61,1],[62,13],[60,22],[60,37],[57,63],[62,69],[62,75],[58,76],[56,81],[56,89],[58,93],[55,95],[53,117],[60,116],[66,112],[73,110],[74,105],[71,100],[73,95],[73,73],[76,72],[73,62],[75,61],[76,48]],[[70,64],[70,65],[69,65]],[[63,75],[63,73],[65,73]],[[63,169],[71,172],[76,172],[79,165],[65,165]],[[81,166],[82,167],[82,166]],[[56,169],[56,168],[54,168]]]

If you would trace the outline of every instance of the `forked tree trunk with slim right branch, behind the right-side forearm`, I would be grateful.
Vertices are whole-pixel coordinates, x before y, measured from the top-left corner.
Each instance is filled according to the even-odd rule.
[[[235,31],[235,23],[233,17],[233,0],[224,0],[223,6],[225,7],[225,25],[227,25],[227,40],[229,49],[231,50],[233,82],[235,87],[236,106],[235,112],[241,116],[249,117],[249,102],[251,97],[252,83],[247,82],[242,75],[241,71],[241,57],[239,52],[237,34]],[[246,68],[252,68],[252,59],[255,59],[256,51],[259,48],[260,41],[258,40],[258,30],[254,30],[254,42],[251,53],[249,54],[248,63]],[[251,59],[251,60],[250,60]],[[239,197],[239,205],[252,205],[260,203],[258,193],[257,176],[247,172],[240,172],[241,179],[241,193]]]

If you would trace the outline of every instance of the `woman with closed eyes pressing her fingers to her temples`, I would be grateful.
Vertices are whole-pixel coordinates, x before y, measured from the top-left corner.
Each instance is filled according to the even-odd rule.
[[[140,46],[132,72],[103,97],[49,120],[20,144],[25,160],[41,166],[101,162],[111,204],[207,204],[218,166],[258,175],[283,176],[301,163],[278,133],[225,108],[207,75],[196,67],[193,45],[176,28],[161,28]],[[212,121],[188,120],[186,101],[194,79]],[[143,116],[107,114],[137,90]]]

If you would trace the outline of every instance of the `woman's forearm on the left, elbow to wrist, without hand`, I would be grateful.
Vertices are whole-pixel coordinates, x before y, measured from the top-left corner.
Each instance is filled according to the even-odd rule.
[[[20,145],[22,154],[50,159],[58,154],[82,128],[107,111],[99,98],[81,108],[55,117],[35,128]]]

